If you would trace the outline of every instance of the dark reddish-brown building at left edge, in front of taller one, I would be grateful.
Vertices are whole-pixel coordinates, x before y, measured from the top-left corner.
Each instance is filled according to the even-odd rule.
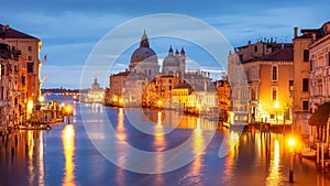
[[[0,130],[6,131],[22,122],[26,110],[26,69],[21,52],[0,43]]]

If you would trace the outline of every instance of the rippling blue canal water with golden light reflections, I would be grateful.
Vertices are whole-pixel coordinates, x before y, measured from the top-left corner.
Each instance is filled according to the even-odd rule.
[[[1,186],[330,185],[329,173],[320,173],[312,161],[298,157],[294,158],[295,182],[288,182],[292,153],[286,145],[288,136],[280,133],[241,133],[238,129],[218,128],[216,123],[198,117],[180,117],[177,118],[179,123],[173,123],[164,117],[168,118],[168,113],[156,110],[141,112],[132,109],[128,112],[101,105],[72,100],[70,103],[76,110],[72,124],[55,123],[50,131],[16,131],[0,138]],[[89,111],[92,114],[106,112],[116,136],[111,133],[111,136],[105,136],[107,130],[95,129],[103,127],[106,122],[96,120],[94,123],[84,118],[82,114]],[[130,120],[127,114],[134,117]],[[142,132],[132,121],[139,124],[150,123],[146,124],[147,128],[162,128],[167,133],[150,134],[146,128],[141,128],[145,130]],[[91,124],[95,129],[92,131],[99,132],[94,133]],[[123,142],[142,151],[166,152],[185,144],[188,139],[191,140],[187,142],[188,147],[185,150],[188,154],[195,154],[195,158],[184,166],[178,165],[176,169],[166,172],[168,160],[158,153],[155,160],[138,164],[143,165],[135,167],[141,168],[141,172],[125,169],[135,165],[136,158],[141,157],[130,156],[131,151],[121,147]],[[221,145],[226,139],[230,151],[221,154]],[[109,140],[112,140],[111,143]],[[118,162],[111,161],[111,156],[100,149],[109,144],[108,149],[116,150],[113,153]],[[183,154],[174,155],[173,158],[180,155]],[[153,174],[144,173],[146,171]]]

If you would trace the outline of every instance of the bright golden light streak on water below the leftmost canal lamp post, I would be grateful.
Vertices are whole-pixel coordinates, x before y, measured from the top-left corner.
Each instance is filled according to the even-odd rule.
[[[63,149],[65,156],[64,186],[75,186],[75,128],[73,124],[66,124],[63,130]]]

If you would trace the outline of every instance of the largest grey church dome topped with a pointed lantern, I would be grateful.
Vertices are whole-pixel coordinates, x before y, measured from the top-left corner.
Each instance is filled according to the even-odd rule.
[[[160,74],[157,55],[150,47],[145,31],[142,35],[140,47],[131,56],[130,72],[142,73],[146,76],[156,76]]]

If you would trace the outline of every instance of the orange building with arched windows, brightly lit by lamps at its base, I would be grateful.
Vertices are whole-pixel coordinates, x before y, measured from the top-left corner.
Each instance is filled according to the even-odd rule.
[[[293,53],[292,44],[273,40],[255,44],[249,41],[246,46],[237,47],[233,54],[230,53],[228,77],[232,91],[231,111],[244,114],[245,122],[290,123]]]

